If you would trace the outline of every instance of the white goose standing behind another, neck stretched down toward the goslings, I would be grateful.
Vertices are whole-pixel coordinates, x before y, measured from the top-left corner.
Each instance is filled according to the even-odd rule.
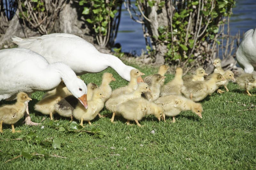
[[[91,43],[72,34],[54,33],[24,39],[13,37],[12,40],[19,47],[44,56],[50,64],[58,61],[67,64],[76,75],[98,73],[110,66],[130,81],[130,72],[134,69],[116,56],[100,53]]]

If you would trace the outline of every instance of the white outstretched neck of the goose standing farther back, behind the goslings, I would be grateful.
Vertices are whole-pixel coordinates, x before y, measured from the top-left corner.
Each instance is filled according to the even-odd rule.
[[[130,81],[130,72],[134,67],[125,65],[119,58],[111,54],[103,54],[101,56],[107,60],[108,66],[112,67],[123,79]]]

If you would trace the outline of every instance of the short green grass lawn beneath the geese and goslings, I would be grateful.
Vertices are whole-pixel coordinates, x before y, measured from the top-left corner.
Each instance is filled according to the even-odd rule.
[[[137,67],[143,73],[152,74],[157,71],[150,67]],[[117,73],[108,68],[104,72],[114,74],[112,88],[127,84]],[[88,82],[100,84],[101,73],[90,73],[82,76]],[[173,78],[168,74],[166,81]],[[117,118],[112,124],[107,118],[95,118],[92,126],[85,125],[86,130],[100,128],[107,133],[102,139],[87,133],[73,134],[59,132],[51,128],[50,119],[33,110],[34,104],[41,99],[44,92],[32,95],[29,103],[32,120],[41,126],[25,126],[23,120],[16,123],[16,130],[21,133],[12,134],[9,125],[4,125],[4,134],[0,135],[1,152],[40,152],[46,151],[64,158],[20,157],[4,163],[9,158],[0,157],[0,169],[255,169],[256,168],[256,109],[248,108],[256,104],[256,97],[249,97],[238,89],[236,84],[228,84],[230,92],[214,93],[202,101],[203,119],[192,112],[181,112],[175,123],[167,117],[167,123],[158,122],[154,116],[143,119],[139,128],[136,123],[127,126],[123,118]],[[256,90],[252,90],[256,94]],[[11,103],[11,102],[3,102]],[[245,104],[245,106],[244,106]],[[101,114],[108,114],[103,109]],[[68,126],[69,119],[54,115],[53,124]],[[77,123],[79,123],[77,121]],[[155,134],[150,132],[154,130]],[[15,139],[20,134],[36,133],[40,138],[57,138],[64,146],[61,150],[44,148],[42,145],[6,139]],[[0,152],[0,154],[1,154]],[[18,156],[19,154],[16,154]]]

